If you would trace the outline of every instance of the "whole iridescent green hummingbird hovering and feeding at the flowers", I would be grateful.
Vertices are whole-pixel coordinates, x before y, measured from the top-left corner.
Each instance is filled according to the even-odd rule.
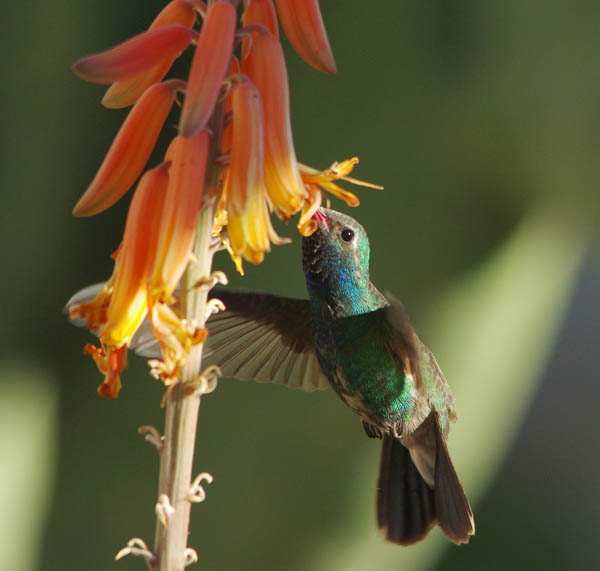
[[[208,321],[203,363],[239,380],[331,387],[365,434],[382,440],[376,509],[385,538],[412,545],[437,524],[467,543],[473,513],[446,445],[457,419],[452,391],[403,305],[370,281],[364,228],[326,208],[313,218],[316,231],[302,239],[308,299],[213,288],[226,310]],[[160,357],[148,323],[131,347]]]

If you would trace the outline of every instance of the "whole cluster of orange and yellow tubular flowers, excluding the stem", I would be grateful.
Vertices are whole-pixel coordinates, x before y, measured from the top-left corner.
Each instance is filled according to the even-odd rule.
[[[216,0],[206,8],[199,0],[173,0],[147,32],[75,65],[87,79],[113,82],[105,105],[134,103],[77,203],[76,216],[101,212],[127,192],[142,173],[177,93],[185,95],[179,133],[165,162],[146,172],[134,193],[113,275],[94,300],[70,308],[73,318],[84,319],[100,337],[100,347],[87,345],[85,351],[105,377],[99,388],[105,397],[117,396],[120,373],[127,366],[127,346],[146,316],[162,350],[162,359],[150,363],[152,374],[167,385],[177,382],[192,346],[207,336],[193,319],[182,319],[175,295],[193,261],[206,190],[211,196],[208,204],[218,203],[213,232],[221,234],[226,227],[230,253],[241,271],[242,258],[260,263],[271,243],[289,241],[275,232],[272,212],[283,220],[300,212],[298,229],[308,235],[315,229],[312,215],[323,191],[351,206],[358,204],[352,193],[333,181],[375,186],[348,177],[357,159],[334,163],[324,171],[298,163],[273,2],[246,2],[245,28],[237,37],[244,39],[241,66],[233,53],[239,49],[234,4]],[[311,65],[333,71],[318,4],[308,2],[304,12],[289,3],[278,3],[278,8],[299,53]],[[199,33],[194,30],[197,12],[203,15]],[[194,37],[189,81],[159,83]],[[309,49],[311,42],[318,45]],[[214,132],[206,127],[209,120]],[[221,156],[212,148],[216,145]],[[209,164],[209,157],[217,162]],[[209,169],[211,185],[220,181],[220,187],[204,189]]]

